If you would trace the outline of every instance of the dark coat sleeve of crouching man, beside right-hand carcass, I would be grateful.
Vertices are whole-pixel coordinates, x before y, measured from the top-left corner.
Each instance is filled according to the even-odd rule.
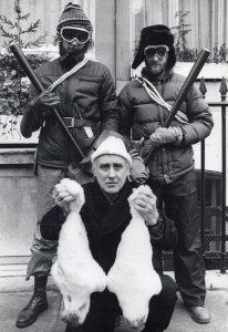
[[[159,210],[158,221],[155,226],[147,226],[152,246],[169,250],[177,243],[177,230],[172,219]]]

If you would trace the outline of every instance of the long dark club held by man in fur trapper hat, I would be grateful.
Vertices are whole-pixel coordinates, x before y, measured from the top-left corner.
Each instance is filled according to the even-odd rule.
[[[184,82],[184,84],[183,84],[183,86],[182,86],[182,89],[178,93],[178,96],[177,96],[177,98],[176,98],[176,101],[175,101],[175,103],[174,103],[174,105],[170,110],[170,113],[168,114],[168,116],[167,116],[167,118],[164,123],[165,128],[169,127],[172,121],[174,120],[175,115],[177,114],[177,111],[179,110],[179,107],[180,107],[182,103],[184,102],[186,95],[188,94],[191,85],[194,84],[195,80],[197,79],[197,76],[198,76],[200,70],[203,69],[203,66],[204,66],[207,58],[209,56],[209,54],[210,54],[210,51],[207,50],[207,49],[203,49],[200,51],[194,66],[191,68],[187,79],[185,80],[185,82]],[[155,147],[156,146],[152,142],[152,147],[151,147],[151,149],[148,152],[148,155],[145,159],[145,165],[146,166],[148,166],[148,163],[151,160],[151,157],[152,157],[152,154],[153,154]]]

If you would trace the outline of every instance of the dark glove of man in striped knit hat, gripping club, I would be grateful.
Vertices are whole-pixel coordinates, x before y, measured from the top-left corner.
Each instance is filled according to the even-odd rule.
[[[32,100],[31,107],[33,112],[45,118],[52,115],[51,110],[59,104],[60,97],[55,93],[44,91]]]

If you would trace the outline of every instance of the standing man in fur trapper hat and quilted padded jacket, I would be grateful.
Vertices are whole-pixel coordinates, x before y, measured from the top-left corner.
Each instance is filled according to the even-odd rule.
[[[157,206],[165,205],[167,216],[177,227],[174,269],[183,300],[195,321],[208,323],[191,145],[210,134],[213,116],[194,85],[170,126],[163,127],[185,81],[173,70],[176,56],[168,27],[157,24],[142,30],[132,68],[142,62],[142,75],[126,84],[118,95],[121,133],[139,145],[144,158],[152,144],[156,144],[147,184],[157,196]]]

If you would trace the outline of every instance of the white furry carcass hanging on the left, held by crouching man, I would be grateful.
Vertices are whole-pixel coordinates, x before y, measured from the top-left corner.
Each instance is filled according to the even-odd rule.
[[[66,178],[61,185],[76,199],[70,203],[71,211],[60,231],[58,260],[52,267],[52,276],[63,297],[62,320],[79,325],[89,312],[91,293],[105,289],[106,274],[91,255],[79,214],[84,204],[83,188]]]

